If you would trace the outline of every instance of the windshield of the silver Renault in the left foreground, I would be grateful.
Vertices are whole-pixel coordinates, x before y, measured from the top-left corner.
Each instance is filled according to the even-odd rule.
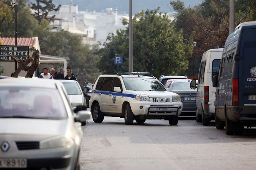
[[[0,118],[66,119],[57,89],[0,87]]]

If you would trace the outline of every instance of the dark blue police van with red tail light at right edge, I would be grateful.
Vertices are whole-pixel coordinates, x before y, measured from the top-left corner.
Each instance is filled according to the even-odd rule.
[[[216,89],[216,128],[242,134],[256,125],[256,22],[242,23],[226,40]]]

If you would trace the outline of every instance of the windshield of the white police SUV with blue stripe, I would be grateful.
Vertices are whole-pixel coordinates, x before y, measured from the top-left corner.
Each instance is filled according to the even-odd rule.
[[[126,90],[134,91],[166,91],[164,86],[154,78],[123,78]]]

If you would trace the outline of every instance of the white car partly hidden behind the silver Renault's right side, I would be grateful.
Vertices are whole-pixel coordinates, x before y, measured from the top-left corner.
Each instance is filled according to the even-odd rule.
[[[86,101],[79,83],[75,80],[58,80],[58,81],[62,82],[62,84],[64,85],[68,93],[68,98],[69,98],[72,109],[75,109],[77,106],[80,106],[81,109],[86,110]],[[82,108],[81,105],[84,107]],[[86,125],[86,122],[82,122],[82,125],[83,126]]]

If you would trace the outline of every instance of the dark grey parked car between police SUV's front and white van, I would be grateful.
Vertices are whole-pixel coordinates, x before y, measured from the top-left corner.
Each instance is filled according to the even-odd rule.
[[[168,80],[169,81],[169,80]],[[195,116],[196,115],[196,89],[190,89],[191,79],[176,79],[171,81],[172,83],[167,91],[177,93],[180,95],[181,102],[183,104],[181,116]]]

